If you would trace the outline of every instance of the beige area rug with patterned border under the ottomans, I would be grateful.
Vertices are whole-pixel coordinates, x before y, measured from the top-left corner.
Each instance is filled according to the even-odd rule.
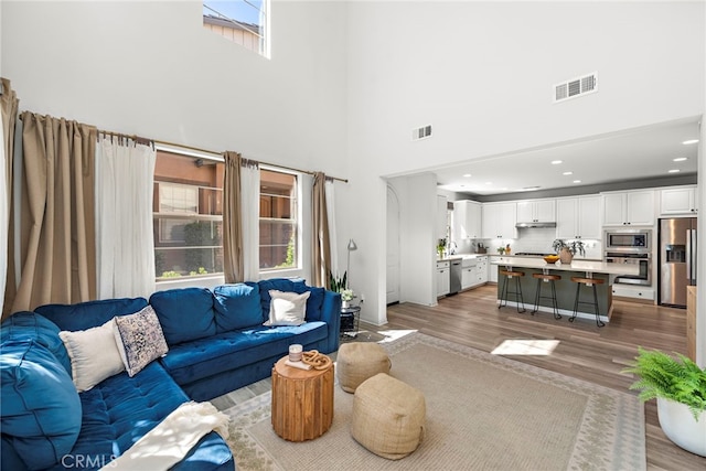
[[[225,411],[238,470],[641,470],[638,398],[420,333],[382,344],[391,375],[419,388],[425,438],[391,461],[350,435],[353,395],[335,388],[333,425],[292,443],[270,425],[269,393]]]

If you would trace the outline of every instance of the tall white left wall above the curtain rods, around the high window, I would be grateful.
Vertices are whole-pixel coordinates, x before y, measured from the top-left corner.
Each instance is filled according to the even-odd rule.
[[[201,1],[2,1],[21,109],[270,163],[346,172],[345,4],[275,0],[271,60]]]

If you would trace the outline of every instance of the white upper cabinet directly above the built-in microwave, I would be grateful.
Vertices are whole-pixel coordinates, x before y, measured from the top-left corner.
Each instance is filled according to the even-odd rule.
[[[603,193],[603,226],[654,225],[654,190]]]

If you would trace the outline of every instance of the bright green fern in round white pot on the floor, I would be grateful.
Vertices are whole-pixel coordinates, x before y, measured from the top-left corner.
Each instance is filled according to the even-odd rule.
[[[706,368],[687,356],[676,358],[659,350],[638,347],[638,356],[623,373],[639,379],[630,389],[640,389],[640,399],[657,400],[660,426],[675,445],[706,457]]]

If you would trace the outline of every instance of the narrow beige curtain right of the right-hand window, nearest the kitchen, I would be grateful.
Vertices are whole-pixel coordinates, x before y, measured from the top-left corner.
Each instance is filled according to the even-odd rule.
[[[327,214],[327,176],[322,172],[313,174],[312,191],[312,285],[329,287],[329,272],[331,271],[331,246],[329,245],[329,217]]]

